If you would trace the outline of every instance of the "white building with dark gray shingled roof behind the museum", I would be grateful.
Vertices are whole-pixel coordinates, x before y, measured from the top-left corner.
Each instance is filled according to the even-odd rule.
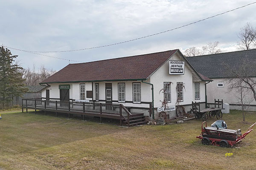
[[[230,109],[241,110],[239,89],[230,89],[230,80],[236,78],[233,72],[244,73],[256,82],[256,49],[233,51],[220,54],[187,57],[193,67],[213,81],[207,84],[207,102],[223,99]],[[241,68],[244,67],[244,68]],[[240,73],[239,73],[240,74]],[[255,85],[253,85],[255,88]],[[256,111],[256,102],[250,89],[244,96],[244,102],[250,105],[250,111]]]

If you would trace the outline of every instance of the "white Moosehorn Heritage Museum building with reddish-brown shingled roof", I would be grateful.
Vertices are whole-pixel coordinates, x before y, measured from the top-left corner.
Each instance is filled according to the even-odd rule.
[[[193,101],[204,108],[209,81],[177,49],[69,64],[40,84],[47,86],[42,91],[44,100],[120,104],[151,118],[158,116],[157,108],[164,102],[165,108],[172,108],[166,111],[171,118],[177,105],[189,111]]]

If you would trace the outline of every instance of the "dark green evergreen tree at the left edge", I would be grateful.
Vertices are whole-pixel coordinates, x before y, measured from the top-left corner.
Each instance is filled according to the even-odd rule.
[[[21,96],[27,91],[23,84],[21,70],[15,63],[17,56],[3,46],[0,47],[0,108],[6,109],[13,96]]]

